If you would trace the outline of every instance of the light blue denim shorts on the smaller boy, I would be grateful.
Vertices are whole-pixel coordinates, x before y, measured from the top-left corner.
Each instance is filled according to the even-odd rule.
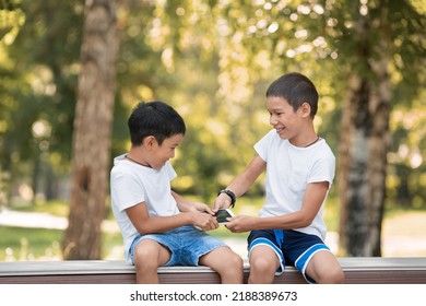
[[[199,266],[199,259],[212,250],[224,247],[226,244],[208,235],[192,225],[185,225],[161,234],[138,235],[129,249],[130,259],[134,264],[134,249],[143,239],[152,239],[168,248],[170,259],[164,264],[169,266]]]

